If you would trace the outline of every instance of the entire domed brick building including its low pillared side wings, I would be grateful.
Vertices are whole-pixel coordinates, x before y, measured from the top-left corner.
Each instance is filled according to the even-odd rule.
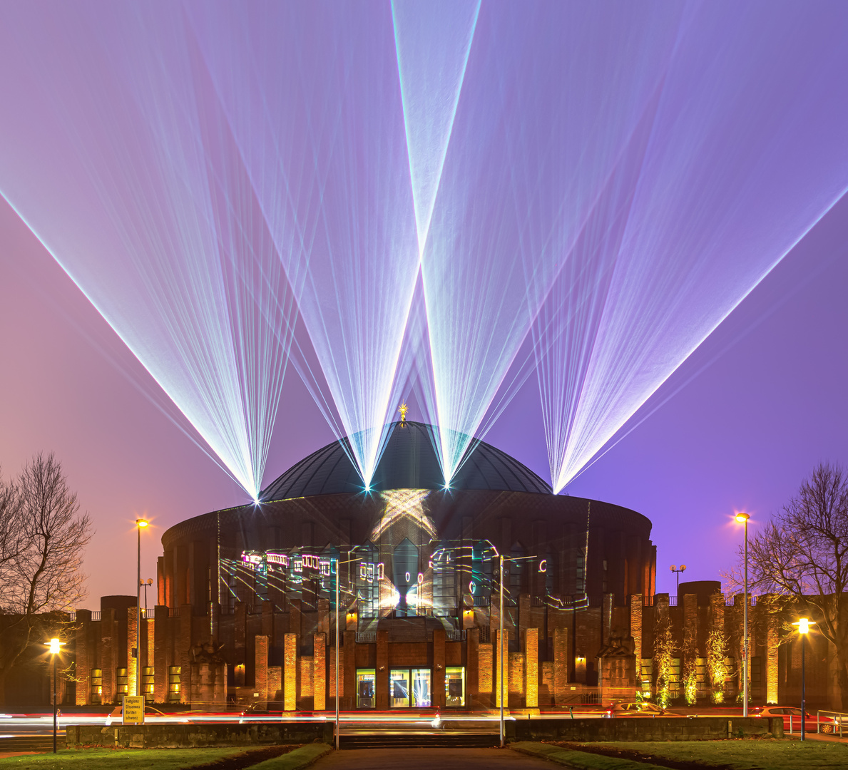
[[[99,611],[69,617],[75,678],[60,695],[80,706],[120,702],[141,684],[165,706],[323,711],[335,708],[338,668],[345,711],[484,711],[499,706],[502,601],[512,709],[631,700],[637,689],[650,697],[661,686],[657,655],[672,699],[687,676],[703,702],[737,697],[741,594],[730,600],[717,581],[655,594],[648,519],[551,494],[484,442],[445,488],[432,432],[388,426],[368,490],[343,440],[283,473],[259,504],[170,527],[140,634],[135,596],[105,596]],[[777,644],[786,618],[765,599],[748,613],[750,694],[794,701],[799,647]],[[671,634],[670,648],[657,650],[657,633]],[[716,638],[728,658],[710,673]],[[827,641],[809,644],[808,695],[833,707]]]

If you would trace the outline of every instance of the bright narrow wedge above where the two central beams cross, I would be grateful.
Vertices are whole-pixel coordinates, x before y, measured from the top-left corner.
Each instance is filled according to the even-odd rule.
[[[480,0],[392,2],[419,252],[427,242],[479,12]]]

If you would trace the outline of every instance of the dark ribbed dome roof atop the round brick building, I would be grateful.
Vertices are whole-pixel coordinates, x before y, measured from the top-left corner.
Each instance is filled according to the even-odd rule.
[[[422,422],[393,422],[371,490],[441,489],[444,476],[432,447],[434,428]],[[344,444],[343,444],[344,443]],[[313,452],[271,482],[259,495],[263,502],[313,494],[362,492],[362,478],[349,457],[347,438]],[[490,489],[551,494],[550,485],[491,444],[477,441],[450,483],[452,489]]]

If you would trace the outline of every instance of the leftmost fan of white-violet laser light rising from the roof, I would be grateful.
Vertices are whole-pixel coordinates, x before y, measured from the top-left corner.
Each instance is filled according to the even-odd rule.
[[[0,63],[3,196],[255,498],[294,306],[181,8],[6,6]]]

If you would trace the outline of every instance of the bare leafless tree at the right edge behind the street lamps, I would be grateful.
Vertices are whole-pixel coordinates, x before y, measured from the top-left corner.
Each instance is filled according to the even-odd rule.
[[[741,555],[741,551],[740,551]],[[807,610],[833,644],[842,708],[848,707],[848,475],[817,466],[798,495],[748,545],[752,588]],[[730,577],[739,582],[739,571]]]

